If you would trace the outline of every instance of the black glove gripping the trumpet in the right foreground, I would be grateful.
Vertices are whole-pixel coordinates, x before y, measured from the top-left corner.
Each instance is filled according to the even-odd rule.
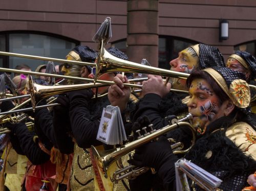
[[[133,159],[128,162],[136,166],[152,167],[158,171],[173,156],[169,141],[165,136],[161,136],[158,141],[150,142],[136,149]]]

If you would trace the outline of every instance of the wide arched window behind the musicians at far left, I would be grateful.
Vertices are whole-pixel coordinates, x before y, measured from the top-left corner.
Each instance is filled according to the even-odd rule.
[[[52,34],[33,34],[33,33],[8,33],[0,34],[1,51],[42,56],[50,58],[65,59],[79,42]],[[47,64],[48,61],[35,60],[20,57],[0,56],[1,67],[15,68],[19,64],[27,64],[34,71],[38,65]],[[55,63],[58,65],[59,63]]]

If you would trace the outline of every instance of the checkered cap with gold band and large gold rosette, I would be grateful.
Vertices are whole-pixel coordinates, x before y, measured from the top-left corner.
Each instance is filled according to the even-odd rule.
[[[246,108],[250,104],[250,88],[245,75],[228,67],[211,67],[203,69],[223,89],[234,105]]]

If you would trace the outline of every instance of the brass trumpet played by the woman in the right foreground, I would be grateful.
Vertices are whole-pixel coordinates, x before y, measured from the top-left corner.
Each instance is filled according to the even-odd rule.
[[[135,141],[130,142],[129,144],[123,145],[119,148],[115,148],[112,150],[108,150],[108,151],[97,151],[96,148],[94,146],[91,147],[92,149],[92,153],[93,156],[95,157],[95,160],[97,162],[97,165],[99,166],[99,169],[101,170],[101,172],[104,174],[105,178],[108,178],[107,175],[107,171],[109,169],[109,166],[119,160],[122,156],[130,153],[131,151],[135,150],[137,147],[142,146],[143,144],[146,144],[147,142],[150,142],[151,140],[154,140],[156,138],[158,138],[159,136],[166,134],[167,132],[169,132],[170,130],[176,129],[179,126],[187,126],[189,127],[189,129],[191,130],[191,133],[193,134],[193,139],[191,141],[191,146],[186,149],[186,150],[176,150],[174,151],[175,154],[181,154],[181,153],[185,153],[188,152],[191,147],[194,145],[195,140],[196,140],[196,136],[195,136],[195,132],[196,130],[194,129],[194,127],[187,123],[187,122],[183,122],[185,120],[189,120],[191,119],[192,115],[189,113],[185,118],[181,119],[181,121],[178,121],[178,123],[173,124],[173,125],[168,125],[165,126],[159,130],[152,130],[150,132],[149,135],[143,136],[142,138],[139,138]],[[148,168],[144,169],[144,168],[136,168],[136,166],[128,166],[125,169],[121,169],[120,171],[116,172],[113,177],[111,177],[113,182],[117,182],[123,178],[133,178],[136,177],[138,175],[140,175],[142,172],[147,171]]]

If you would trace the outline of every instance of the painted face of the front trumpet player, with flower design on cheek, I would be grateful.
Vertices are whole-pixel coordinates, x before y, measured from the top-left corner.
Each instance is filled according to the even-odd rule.
[[[217,118],[224,116],[220,99],[211,86],[203,79],[195,79],[189,87],[190,101],[188,111],[194,116],[192,125],[199,134],[203,134],[206,127]]]

